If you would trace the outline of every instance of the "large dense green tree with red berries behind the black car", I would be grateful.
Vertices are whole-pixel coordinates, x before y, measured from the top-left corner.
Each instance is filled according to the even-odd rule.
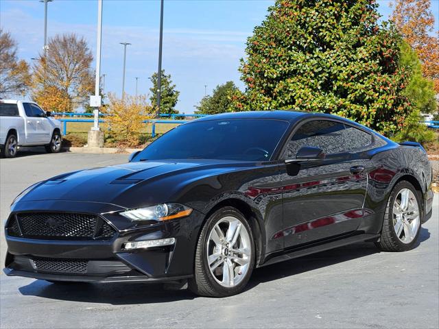
[[[401,37],[375,0],[277,0],[248,38],[238,110],[337,114],[392,135],[410,106]]]

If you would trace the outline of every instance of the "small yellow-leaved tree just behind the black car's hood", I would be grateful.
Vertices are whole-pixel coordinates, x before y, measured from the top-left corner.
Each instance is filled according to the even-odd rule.
[[[139,136],[145,128],[143,121],[155,117],[154,108],[147,103],[147,97],[125,95],[121,99],[110,93],[108,99],[110,103],[104,110],[108,114],[105,121],[115,133],[115,139],[128,146],[139,145]]]

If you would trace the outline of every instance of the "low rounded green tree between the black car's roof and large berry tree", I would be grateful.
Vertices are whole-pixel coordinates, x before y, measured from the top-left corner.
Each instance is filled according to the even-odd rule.
[[[232,97],[235,93],[239,93],[239,89],[232,81],[225,84],[219,84],[213,90],[212,95],[202,98],[199,106],[195,106],[196,113],[199,114],[217,114],[231,112],[235,110],[233,107]]]

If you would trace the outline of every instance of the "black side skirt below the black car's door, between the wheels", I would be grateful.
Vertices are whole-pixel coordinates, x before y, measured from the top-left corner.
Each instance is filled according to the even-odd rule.
[[[309,254],[315,254],[316,252],[324,252],[325,250],[342,247],[344,245],[351,245],[352,243],[376,241],[378,238],[379,238],[379,234],[357,234],[348,237],[343,237],[340,239],[332,239],[331,241],[324,241],[322,243],[313,243],[311,245],[292,249],[289,252],[286,252],[285,254],[273,256],[272,258],[269,258],[267,261],[265,261],[265,263],[259,265],[259,267],[283,262],[284,260],[290,260],[302,256],[307,256]]]

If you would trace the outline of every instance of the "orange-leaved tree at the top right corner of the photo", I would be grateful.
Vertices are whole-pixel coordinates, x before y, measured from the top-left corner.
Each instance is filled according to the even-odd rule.
[[[439,93],[439,32],[434,34],[430,5],[430,0],[396,0],[391,19],[418,53],[424,77],[434,81],[434,89]]]

